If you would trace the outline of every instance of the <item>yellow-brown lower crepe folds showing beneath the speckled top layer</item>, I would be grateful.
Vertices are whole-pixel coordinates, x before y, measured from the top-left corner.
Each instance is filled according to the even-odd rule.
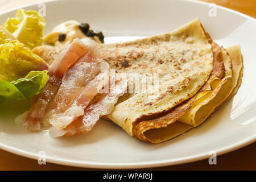
[[[232,58],[233,76],[230,78],[225,71],[225,77],[216,77],[210,82],[210,89],[205,84],[196,96],[180,104],[168,113],[134,123],[134,137],[151,143],[160,143],[177,137],[185,131],[203,123],[224,101],[235,94],[242,81],[242,59],[240,46],[226,49]],[[227,76],[226,76],[227,75]],[[154,123],[154,124],[152,124]],[[159,123],[158,126],[156,123]],[[148,126],[148,125],[154,126]]]

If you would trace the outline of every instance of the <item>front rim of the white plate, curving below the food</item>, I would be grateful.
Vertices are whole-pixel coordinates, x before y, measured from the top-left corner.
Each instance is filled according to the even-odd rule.
[[[232,152],[234,150],[238,150],[242,147],[245,147],[251,143],[256,142],[256,134],[251,137],[247,137],[246,139],[240,140],[240,142],[230,144],[229,146],[225,146],[222,148],[218,148],[216,151],[217,156],[226,154],[228,152]],[[30,159],[39,159],[39,155],[33,154],[31,152],[27,152],[24,150],[18,150],[13,147],[6,146],[5,144],[0,143],[0,149],[5,150],[7,152],[11,152],[16,155],[24,156]],[[167,159],[167,160],[158,160],[157,162],[133,162],[133,163],[106,163],[106,162],[91,162],[89,160],[85,160],[84,162],[77,162],[73,160],[67,159],[57,159],[46,156],[46,163],[60,164],[64,166],[72,166],[72,167],[82,167],[82,168],[96,168],[96,169],[138,169],[138,168],[153,168],[153,167],[164,167],[164,166],[174,166],[177,164],[191,163],[199,160],[204,160],[209,158],[209,154],[204,152],[198,155],[192,155],[189,157],[177,158],[177,159]]]

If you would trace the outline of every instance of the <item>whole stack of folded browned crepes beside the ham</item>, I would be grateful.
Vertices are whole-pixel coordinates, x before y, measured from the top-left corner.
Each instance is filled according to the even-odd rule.
[[[47,47],[34,52],[46,61],[54,59]],[[157,92],[150,88],[153,92],[120,95],[111,113],[104,115],[129,135],[151,143],[203,123],[236,94],[242,81],[240,46],[218,46],[199,19],[167,34],[101,44],[99,54],[116,73],[158,73]]]

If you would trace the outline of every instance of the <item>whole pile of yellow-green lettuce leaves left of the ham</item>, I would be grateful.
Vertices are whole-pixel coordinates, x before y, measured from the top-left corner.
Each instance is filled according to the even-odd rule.
[[[42,43],[43,27],[38,13],[25,10],[0,26],[0,103],[28,100],[45,88],[48,64],[31,51]]]

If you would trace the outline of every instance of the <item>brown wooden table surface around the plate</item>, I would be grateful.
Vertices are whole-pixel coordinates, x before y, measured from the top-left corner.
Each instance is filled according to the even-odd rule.
[[[0,13],[9,9],[42,0],[0,0]],[[46,0],[44,0],[46,1]],[[225,6],[256,18],[256,0],[201,0]],[[154,170],[256,170],[256,143],[239,150],[217,156],[217,165],[209,165],[208,160],[150,168]],[[24,158],[10,152],[0,150],[0,170],[93,170],[47,163],[39,165],[37,160]]]

